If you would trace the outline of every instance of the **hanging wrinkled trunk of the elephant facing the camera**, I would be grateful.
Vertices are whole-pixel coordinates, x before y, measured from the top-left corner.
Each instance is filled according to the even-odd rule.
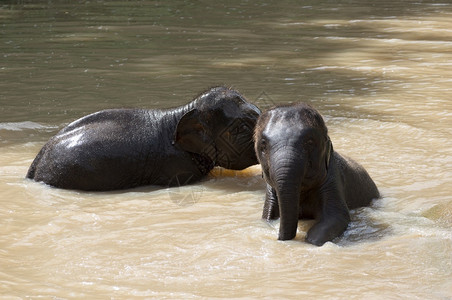
[[[279,240],[291,240],[297,234],[301,184],[305,173],[305,162],[299,154],[287,154],[276,160],[273,168],[280,214]],[[287,159],[288,156],[294,159]]]

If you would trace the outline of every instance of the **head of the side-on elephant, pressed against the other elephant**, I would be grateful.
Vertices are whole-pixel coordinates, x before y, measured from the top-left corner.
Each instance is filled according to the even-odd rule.
[[[242,170],[257,164],[253,133],[260,110],[237,91],[216,87],[201,94],[182,116],[175,143],[214,165]]]

